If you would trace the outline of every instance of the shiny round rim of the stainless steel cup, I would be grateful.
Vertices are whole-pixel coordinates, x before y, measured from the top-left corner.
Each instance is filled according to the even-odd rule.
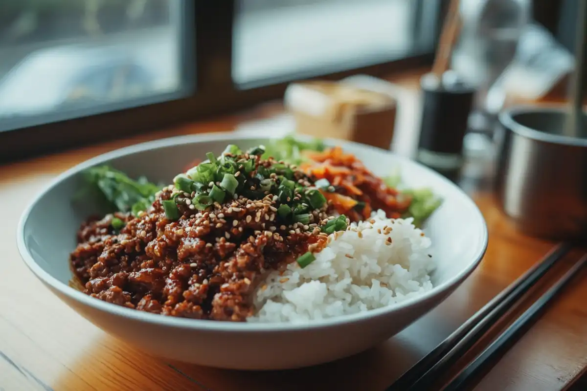
[[[522,125],[514,119],[516,115],[534,114],[539,112],[565,115],[565,109],[567,109],[566,106],[561,104],[541,104],[539,106],[520,105],[502,111],[498,115],[498,118],[500,124],[504,126],[506,130],[531,140],[547,142],[549,144],[568,145],[571,147],[587,147],[587,138],[569,137],[561,134],[542,132]],[[583,116],[586,116],[585,111],[583,111]]]

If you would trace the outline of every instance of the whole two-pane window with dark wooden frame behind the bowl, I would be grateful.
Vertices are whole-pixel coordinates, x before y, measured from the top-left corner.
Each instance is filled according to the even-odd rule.
[[[441,3],[2,0],[0,160],[429,64]]]

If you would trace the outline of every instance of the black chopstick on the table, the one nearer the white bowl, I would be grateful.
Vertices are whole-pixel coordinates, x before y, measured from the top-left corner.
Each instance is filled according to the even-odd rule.
[[[481,310],[477,311],[473,317],[469,318],[443,342],[438,344],[433,351],[400,376],[396,382],[387,388],[387,391],[417,389],[417,386],[428,385],[438,373],[441,373],[441,370],[447,368],[459,358],[460,355],[456,354],[458,352],[455,349],[457,346],[470,348],[481,335],[491,328],[491,325],[498,318],[509,310],[514,301],[524,295],[570,249],[570,244],[561,243],[549,251],[544,259],[501,291],[490,302],[485,304]],[[471,335],[468,335],[470,333]],[[467,336],[467,341],[465,341],[465,336]]]

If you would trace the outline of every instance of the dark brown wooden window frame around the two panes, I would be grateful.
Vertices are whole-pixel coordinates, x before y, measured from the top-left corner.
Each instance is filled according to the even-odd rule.
[[[418,21],[419,10],[427,0],[415,1],[417,5],[414,7],[414,18]],[[442,20],[442,15],[446,12],[447,2],[440,0],[436,30],[440,28],[438,21]],[[180,73],[185,89],[154,97],[137,98],[125,102],[125,108],[120,108],[120,103],[112,103],[76,110],[74,118],[68,118],[68,112],[58,112],[26,117],[25,120],[3,119],[0,122],[0,162],[170,127],[282,97],[289,82],[244,90],[239,90],[233,83],[231,64],[234,10],[233,0],[183,2],[178,12],[183,13],[184,19],[180,29],[180,47],[183,53]],[[414,33],[417,33],[419,45],[436,47],[436,38],[434,42],[423,44],[419,32],[421,26],[414,23]],[[434,36],[437,37],[437,34]],[[429,66],[433,56],[433,50],[423,50],[402,59],[320,74],[308,79],[336,80],[358,72],[383,76]],[[33,124],[22,126],[23,121],[29,124],[32,121]]]

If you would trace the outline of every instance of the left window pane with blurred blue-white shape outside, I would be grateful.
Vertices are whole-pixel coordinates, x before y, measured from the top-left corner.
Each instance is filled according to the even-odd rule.
[[[1,2],[0,118],[75,117],[180,86],[179,0]]]

